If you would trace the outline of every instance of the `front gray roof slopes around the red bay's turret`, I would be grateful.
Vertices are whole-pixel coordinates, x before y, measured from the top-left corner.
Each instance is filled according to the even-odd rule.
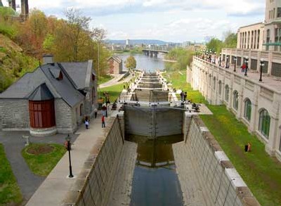
[[[56,74],[61,70],[63,72],[63,79],[55,79],[50,70],[53,70]],[[54,98],[63,98],[71,107],[84,100],[84,96],[75,89],[77,86],[72,82],[72,79],[58,64],[42,65],[34,72],[25,74],[6,91],[1,93],[0,98],[30,98],[38,86],[45,82]]]

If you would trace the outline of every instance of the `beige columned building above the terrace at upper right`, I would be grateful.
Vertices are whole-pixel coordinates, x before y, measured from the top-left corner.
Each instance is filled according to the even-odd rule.
[[[264,22],[240,27],[237,32],[237,49],[223,49],[222,60],[240,67],[248,58],[251,72],[281,79],[281,0],[266,0]]]

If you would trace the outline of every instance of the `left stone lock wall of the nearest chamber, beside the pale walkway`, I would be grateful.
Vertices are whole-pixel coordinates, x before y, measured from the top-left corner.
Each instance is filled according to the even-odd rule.
[[[93,148],[63,205],[107,205],[124,148],[123,119],[119,115],[112,125],[107,126],[105,140],[100,147]]]

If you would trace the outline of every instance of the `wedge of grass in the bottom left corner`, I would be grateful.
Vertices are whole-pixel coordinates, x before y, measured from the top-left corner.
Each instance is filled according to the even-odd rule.
[[[6,158],[4,146],[0,144],[0,205],[18,204],[21,201],[20,188]]]

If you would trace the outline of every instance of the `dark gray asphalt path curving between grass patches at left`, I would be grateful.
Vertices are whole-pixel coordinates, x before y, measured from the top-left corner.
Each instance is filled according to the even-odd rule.
[[[12,131],[0,131],[0,143],[4,145],[6,157],[11,164],[13,174],[18,181],[18,186],[23,195],[22,205],[27,202],[46,179],[44,176],[37,176],[30,171],[25,159],[21,155],[22,149],[25,147],[25,141],[22,139],[22,135],[30,136],[29,132],[12,132]],[[77,138],[77,135],[73,135],[73,141]],[[63,144],[65,141],[65,134],[57,134],[55,136],[47,137],[33,137],[30,136],[32,143],[58,143]]]

